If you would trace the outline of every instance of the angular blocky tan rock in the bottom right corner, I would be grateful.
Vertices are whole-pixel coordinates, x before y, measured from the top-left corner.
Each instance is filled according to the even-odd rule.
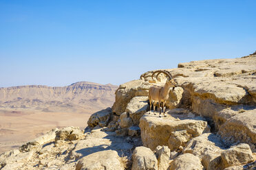
[[[224,167],[246,164],[254,160],[249,145],[245,143],[226,149],[222,152],[221,156]]]

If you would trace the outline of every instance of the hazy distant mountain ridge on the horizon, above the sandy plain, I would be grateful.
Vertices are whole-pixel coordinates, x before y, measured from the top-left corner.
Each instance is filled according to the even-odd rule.
[[[0,109],[43,112],[92,112],[112,106],[118,86],[76,82],[70,86],[14,86],[0,88]]]

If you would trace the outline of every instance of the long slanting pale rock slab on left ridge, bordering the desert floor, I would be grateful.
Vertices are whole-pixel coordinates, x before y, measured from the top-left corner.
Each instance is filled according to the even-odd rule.
[[[31,151],[31,150],[39,151],[41,149],[41,145],[50,141],[54,141],[57,131],[58,131],[58,128],[52,129],[50,132],[47,132],[46,134],[39,136],[38,138],[35,138],[32,141],[29,141],[25,145],[22,145],[20,147],[20,150],[21,151]]]

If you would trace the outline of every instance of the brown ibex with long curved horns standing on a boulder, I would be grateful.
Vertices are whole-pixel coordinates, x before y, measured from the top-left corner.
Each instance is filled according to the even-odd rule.
[[[174,88],[177,86],[177,84],[174,82],[173,77],[171,76],[171,73],[169,73],[169,71],[155,71],[152,73],[152,79],[153,79],[153,75],[155,73],[158,73],[156,75],[156,78],[158,78],[158,75],[160,75],[160,73],[164,73],[165,75],[167,75],[167,82],[164,84],[164,86],[152,86],[151,88],[149,88],[149,114],[151,111],[151,104],[153,102],[153,112],[155,112],[155,108],[156,108],[156,103],[158,102],[158,106],[159,106],[159,117],[161,116],[161,108],[160,108],[160,103],[162,102],[162,109],[164,111],[164,117],[167,116],[167,114],[165,114],[165,108],[164,105],[167,102],[167,99],[169,98],[169,92],[171,90],[171,87]],[[155,113],[156,114],[156,113]]]

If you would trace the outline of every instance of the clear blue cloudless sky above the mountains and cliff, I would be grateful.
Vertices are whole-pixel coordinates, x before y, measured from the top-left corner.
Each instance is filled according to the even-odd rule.
[[[256,1],[0,0],[0,87],[122,84],[256,50]]]

